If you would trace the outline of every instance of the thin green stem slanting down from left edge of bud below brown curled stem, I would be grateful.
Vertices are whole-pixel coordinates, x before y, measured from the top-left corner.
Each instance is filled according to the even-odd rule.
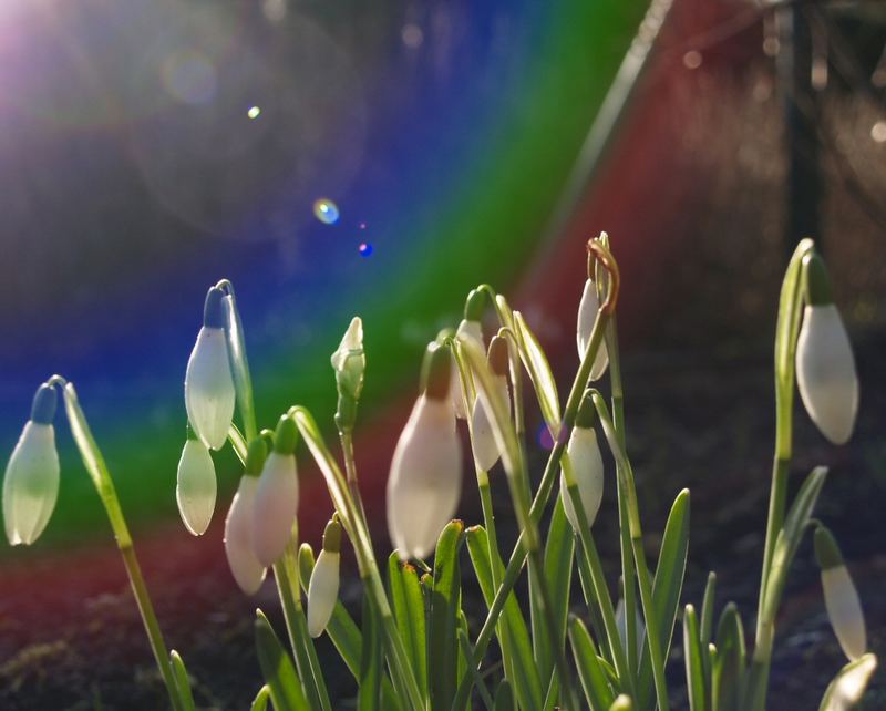
[[[573,502],[573,509],[575,511],[578,521],[579,540],[581,542],[581,553],[587,571],[590,577],[591,586],[594,588],[594,598],[597,602],[600,616],[602,618],[604,629],[606,637],[600,641],[608,645],[612,661],[615,662],[616,671],[618,672],[619,680],[625,684],[625,690],[636,698],[637,688],[637,667],[629,663],[629,658],[625,655],[625,648],[621,643],[621,638],[618,633],[618,622],[616,621],[616,612],[612,607],[612,598],[609,595],[609,589],[606,586],[606,576],[602,571],[602,564],[600,556],[597,553],[597,546],[594,543],[594,536],[590,533],[590,524],[585,515],[585,506],[581,502],[581,493],[578,490],[578,484],[573,474],[571,462],[568,454],[563,457],[563,472],[566,477],[566,490]]]

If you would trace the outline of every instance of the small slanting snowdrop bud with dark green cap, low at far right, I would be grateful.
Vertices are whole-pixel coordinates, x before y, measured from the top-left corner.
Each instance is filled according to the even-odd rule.
[[[824,526],[815,529],[815,558],[822,568],[824,605],[831,627],[846,657],[855,661],[867,650],[865,618],[837,542]]]

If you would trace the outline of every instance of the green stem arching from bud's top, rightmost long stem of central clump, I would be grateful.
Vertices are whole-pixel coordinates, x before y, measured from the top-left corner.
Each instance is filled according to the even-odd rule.
[[[668,684],[664,679],[664,659],[662,645],[659,638],[658,625],[656,625],[655,608],[652,606],[652,580],[649,576],[649,568],[646,564],[646,552],[643,550],[642,528],[640,527],[640,511],[637,503],[637,490],[635,487],[633,471],[630,466],[625,449],[619,442],[618,432],[615,429],[606,402],[599,392],[593,394],[594,406],[600,418],[609,447],[616,457],[619,482],[621,483],[627,499],[627,523],[630,530],[631,549],[633,561],[637,566],[637,581],[640,586],[640,604],[643,610],[643,618],[647,620],[646,637],[649,645],[649,658],[652,662],[652,678],[656,686],[656,698],[659,711],[668,711]]]

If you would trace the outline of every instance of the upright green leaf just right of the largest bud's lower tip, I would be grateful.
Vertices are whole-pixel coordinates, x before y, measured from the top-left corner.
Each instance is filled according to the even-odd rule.
[[[464,533],[461,521],[443,528],[434,554],[434,581],[431,598],[431,629],[427,668],[432,711],[450,711],[455,695],[459,666],[459,609],[461,608],[461,570],[459,547]]]

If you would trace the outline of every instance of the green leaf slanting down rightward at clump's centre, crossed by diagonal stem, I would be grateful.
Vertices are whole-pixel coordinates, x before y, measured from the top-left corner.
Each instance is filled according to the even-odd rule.
[[[486,529],[483,526],[472,526],[465,533],[465,539],[467,540],[467,553],[471,556],[471,563],[474,566],[474,573],[483,592],[483,599],[488,607],[495,598],[495,588],[492,584]],[[502,565],[501,560],[497,564]],[[507,596],[499,620],[502,625],[507,627],[507,639],[511,646],[509,653],[514,662],[513,691],[516,701],[526,711],[538,711],[543,707],[542,681],[533,659],[532,640],[529,639],[526,620],[513,592]]]

